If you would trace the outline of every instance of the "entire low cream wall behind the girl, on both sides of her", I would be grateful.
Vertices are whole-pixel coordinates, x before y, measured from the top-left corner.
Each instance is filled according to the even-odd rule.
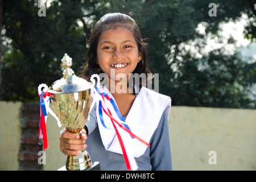
[[[18,170],[20,107],[0,101],[0,170]],[[60,130],[49,115],[44,170],[65,165]],[[169,131],[174,170],[256,169],[256,110],[173,106]],[[217,164],[209,164],[209,151],[216,151]]]

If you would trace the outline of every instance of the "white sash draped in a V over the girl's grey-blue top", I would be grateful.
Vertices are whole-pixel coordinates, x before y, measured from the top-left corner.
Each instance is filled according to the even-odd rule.
[[[102,93],[107,93],[109,97],[114,100],[112,94],[104,86],[100,86],[100,91]],[[111,105],[108,105],[108,107],[113,117],[118,118],[113,107]],[[142,87],[138,96],[135,98],[125,121],[130,127],[132,133],[149,143],[152,135],[154,134],[154,131],[158,127],[158,123],[164,110],[167,111],[169,118],[171,110],[171,98]],[[103,114],[105,126],[108,127],[108,129],[106,129],[98,118],[98,109],[96,109],[96,112],[98,128],[100,130],[101,140],[105,149],[118,154],[122,154],[122,150],[110,118]],[[147,149],[146,144],[142,143],[136,138],[131,138],[131,136],[121,128],[118,128],[118,131],[121,134],[123,143],[125,143],[126,150],[129,150],[131,153],[133,153],[135,158],[138,158],[144,154]]]

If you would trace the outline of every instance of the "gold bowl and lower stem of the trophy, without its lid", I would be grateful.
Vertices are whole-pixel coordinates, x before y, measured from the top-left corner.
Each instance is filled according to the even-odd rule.
[[[52,100],[53,111],[59,118],[61,125],[70,133],[80,134],[89,116],[91,104],[90,89],[67,94],[54,94]],[[66,169],[81,171],[90,169],[93,162],[84,149],[77,156],[67,156]]]

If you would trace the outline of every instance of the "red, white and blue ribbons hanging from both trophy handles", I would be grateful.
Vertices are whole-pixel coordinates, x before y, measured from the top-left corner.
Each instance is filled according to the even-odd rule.
[[[100,78],[98,75],[92,75],[91,81],[93,82],[92,85],[95,85],[94,77],[97,78],[97,86],[92,86],[91,93],[93,96],[93,102],[90,106],[90,111],[93,109],[94,104],[97,102],[98,106],[98,115],[97,117],[100,119],[100,122],[102,126],[104,126],[105,129],[108,130],[115,130],[115,134],[118,138],[118,142],[120,144],[123,158],[125,160],[125,164],[128,170],[136,170],[138,168],[137,163],[135,161],[133,151],[131,151],[129,140],[127,140],[127,137],[138,139],[143,144],[146,144],[146,146],[149,146],[150,143],[145,142],[143,139],[139,138],[137,135],[135,135],[131,130],[130,127],[125,122],[125,119],[122,117],[122,114],[120,113],[117,105],[115,104],[114,100],[104,92],[101,92],[100,87]],[[42,88],[43,92],[42,92]],[[51,93],[47,92],[48,86],[46,84],[41,84],[38,87],[38,94],[40,97],[40,125],[39,125],[39,139],[41,140],[43,138],[43,144],[44,149],[48,148],[48,142],[47,142],[47,131],[46,131],[46,122],[47,122],[47,113],[51,113],[53,117],[58,122],[59,127],[61,126],[59,118],[53,113],[53,111],[49,108],[49,97],[51,96]],[[110,110],[110,107],[112,107],[112,113]],[[90,112],[89,111],[89,112]],[[117,117],[114,117],[114,115],[117,115]],[[109,117],[107,119],[108,121],[104,121],[103,115],[106,115]],[[105,122],[111,122],[106,125]],[[110,125],[113,126],[113,128],[109,128],[107,126]]]

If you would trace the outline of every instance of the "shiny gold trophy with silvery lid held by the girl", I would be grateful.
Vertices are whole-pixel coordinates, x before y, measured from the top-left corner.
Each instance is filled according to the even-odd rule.
[[[61,65],[64,67],[63,77],[48,89],[52,93],[53,112],[67,131],[80,134],[90,114],[92,83],[74,74],[70,68],[72,58],[67,53],[61,59]],[[77,156],[67,156],[65,168],[68,171],[99,171],[100,163],[92,162],[88,152],[81,150]]]

